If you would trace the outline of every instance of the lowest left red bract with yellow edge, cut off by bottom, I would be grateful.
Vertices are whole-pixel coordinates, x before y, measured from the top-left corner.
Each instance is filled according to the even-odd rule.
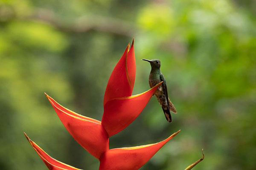
[[[38,155],[41,157],[41,159],[44,161],[46,166],[49,170],[81,170],[75,167],[72,167],[68,164],[64,164],[60,161],[57,161],[56,159],[53,159],[51,156],[49,156],[44,150],[41,149],[35,142],[29,139],[29,137],[24,133],[26,138],[28,139],[31,146],[35,149],[35,151],[38,153]]]

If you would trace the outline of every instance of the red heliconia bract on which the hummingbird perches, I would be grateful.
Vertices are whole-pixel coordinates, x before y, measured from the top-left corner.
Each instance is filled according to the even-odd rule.
[[[161,84],[162,82],[142,94],[116,98],[107,102],[104,106],[102,126],[108,132],[108,136],[113,136],[130,125],[143,111]]]

